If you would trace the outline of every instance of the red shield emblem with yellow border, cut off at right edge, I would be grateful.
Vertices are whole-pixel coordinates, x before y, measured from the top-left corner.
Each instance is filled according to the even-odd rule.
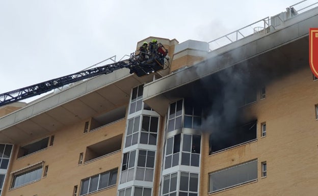
[[[309,65],[318,78],[318,28],[309,29]]]

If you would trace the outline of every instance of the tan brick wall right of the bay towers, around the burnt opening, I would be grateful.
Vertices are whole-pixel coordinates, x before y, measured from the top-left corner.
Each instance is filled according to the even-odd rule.
[[[212,195],[316,195],[318,192],[318,134],[315,104],[318,81],[308,68],[286,74],[266,87],[266,98],[247,106],[256,116],[257,142],[208,155],[208,134],[203,136],[200,195],[207,195],[208,174],[258,159],[258,181]],[[267,135],[260,136],[266,122]],[[261,178],[261,162],[267,177]]]

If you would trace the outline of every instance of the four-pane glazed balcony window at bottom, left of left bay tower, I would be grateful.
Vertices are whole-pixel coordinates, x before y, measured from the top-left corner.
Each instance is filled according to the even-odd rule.
[[[80,195],[85,195],[115,185],[117,181],[117,170],[118,169],[104,172],[82,180]]]

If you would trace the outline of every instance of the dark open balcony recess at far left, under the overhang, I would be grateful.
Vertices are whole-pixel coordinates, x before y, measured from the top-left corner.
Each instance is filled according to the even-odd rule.
[[[45,137],[41,139],[40,141],[20,147],[17,158],[46,149],[48,145],[48,141],[49,141],[49,137]]]

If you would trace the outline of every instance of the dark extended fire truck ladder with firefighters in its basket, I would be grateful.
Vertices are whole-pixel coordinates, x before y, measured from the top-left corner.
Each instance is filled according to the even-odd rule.
[[[139,51],[138,54],[133,52],[130,54],[129,59],[126,60],[79,71],[66,76],[37,83],[36,85],[31,85],[29,87],[3,93],[0,94],[0,107],[20,101],[22,99],[46,93],[76,81],[81,81],[101,74],[109,74],[122,68],[128,68],[130,70],[130,74],[135,73],[137,76],[142,77],[150,73],[163,70],[165,64],[167,67],[169,67],[169,58],[167,57],[167,53],[168,50],[161,43],[158,43],[152,51],[147,53]]]

